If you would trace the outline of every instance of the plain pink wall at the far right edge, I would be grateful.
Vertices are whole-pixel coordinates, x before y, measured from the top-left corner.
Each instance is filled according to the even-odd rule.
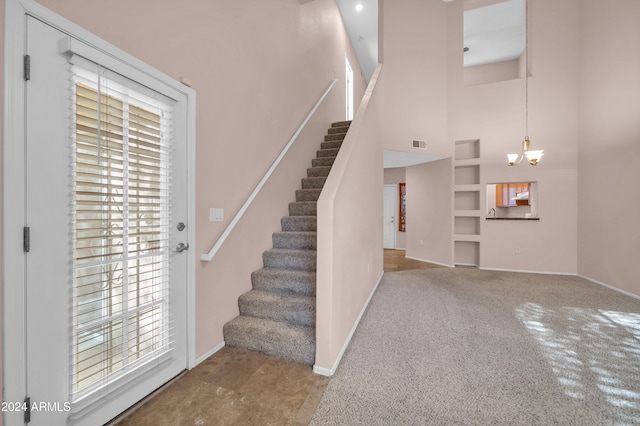
[[[578,272],[640,295],[640,2],[580,1]]]

